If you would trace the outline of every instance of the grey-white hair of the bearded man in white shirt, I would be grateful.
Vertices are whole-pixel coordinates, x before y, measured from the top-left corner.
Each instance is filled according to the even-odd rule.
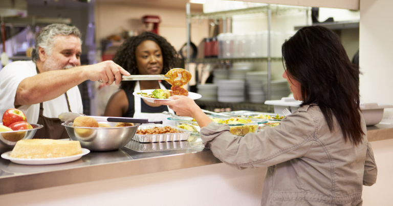
[[[47,54],[52,53],[53,44],[55,43],[55,36],[56,35],[74,35],[79,38],[80,43],[81,40],[81,33],[78,28],[64,25],[64,24],[52,24],[44,27],[38,34],[37,38],[35,39],[35,48],[31,53],[31,58],[35,62],[39,60],[39,51],[38,48],[41,47]]]

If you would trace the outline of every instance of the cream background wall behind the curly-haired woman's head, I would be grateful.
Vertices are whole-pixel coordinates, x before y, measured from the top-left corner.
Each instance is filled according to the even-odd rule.
[[[133,30],[133,20],[144,15],[158,15],[161,18],[159,34],[165,37],[178,51],[186,42],[186,10],[136,7],[125,4],[96,4],[96,40],[125,30]],[[207,20],[192,24],[191,41],[198,44],[208,35]]]

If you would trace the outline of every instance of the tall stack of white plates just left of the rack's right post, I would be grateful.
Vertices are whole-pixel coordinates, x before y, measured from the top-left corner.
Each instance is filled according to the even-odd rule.
[[[267,72],[247,72],[246,88],[248,99],[252,103],[263,103],[266,100],[263,88],[264,82],[268,80]]]

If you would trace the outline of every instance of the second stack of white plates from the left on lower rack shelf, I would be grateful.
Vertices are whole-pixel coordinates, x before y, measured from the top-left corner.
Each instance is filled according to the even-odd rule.
[[[244,102],[245,83],[244,80],[220,80],[218,82],[219,102]]]

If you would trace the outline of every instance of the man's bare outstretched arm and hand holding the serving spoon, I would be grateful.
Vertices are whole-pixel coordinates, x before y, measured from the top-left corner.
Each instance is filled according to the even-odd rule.
[[[121,66],[113,61],[94,65],[78,66],[68,70],[43,72],[22,80],[16,90],[14,105],[31,105],[59,97],[72,87],[86,80],[119,84],[121,74],[129,76]],[[115,80],[116,79],[116,80]]]

